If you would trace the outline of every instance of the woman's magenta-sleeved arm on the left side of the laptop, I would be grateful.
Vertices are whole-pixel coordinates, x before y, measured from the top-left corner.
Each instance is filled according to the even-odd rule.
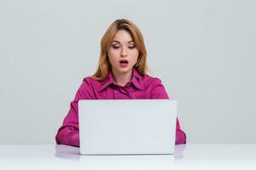
[[[79,147],[79,99],[93,99],[91,95],[90,84],[84,78],[75,98],[70,103],[70,109],[65,117],[62,126],[59,128],[55,141],[57,144],[67,144]]]

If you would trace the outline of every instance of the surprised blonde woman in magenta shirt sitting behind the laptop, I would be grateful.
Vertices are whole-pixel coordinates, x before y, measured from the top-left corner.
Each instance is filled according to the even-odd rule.
[[[143,35],[130,20],[115,20],[102,37],[96,73],[85,77],[62,126],[57,144],[79,146],[79,99],[168,99],[157,77],[148,76]],[[175,144],[185,144],[186,135],[177,120]]]

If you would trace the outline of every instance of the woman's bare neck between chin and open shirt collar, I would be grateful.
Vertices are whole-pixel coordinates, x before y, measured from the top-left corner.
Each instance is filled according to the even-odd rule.
[[[114,82],[120,86],[125,86],[127,82],[131,81],[132,70],[127,72],[118,72],[112,69],[112,73]]]

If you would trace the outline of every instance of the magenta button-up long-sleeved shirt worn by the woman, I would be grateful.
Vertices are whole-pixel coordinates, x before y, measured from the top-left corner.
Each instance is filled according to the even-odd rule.
[[[125,87],[113,81],[111,71],[103,82],[84,77],[84,81],[70,104],[67,116],[55,136],[57,144],[79,147],[79,99],[169,99],[169,97],[159,78],[143,76],[136,69],[133,69],[131,81],[127,82]],[[185,143],[186,134],[177,119],[175,144]]]

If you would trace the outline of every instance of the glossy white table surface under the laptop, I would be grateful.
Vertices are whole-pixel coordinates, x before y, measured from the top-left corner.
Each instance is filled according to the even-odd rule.
[[[173,155],[80,156],[55,144],[0,145],[0,169],[256,169],[256,144],[179,144]]]

